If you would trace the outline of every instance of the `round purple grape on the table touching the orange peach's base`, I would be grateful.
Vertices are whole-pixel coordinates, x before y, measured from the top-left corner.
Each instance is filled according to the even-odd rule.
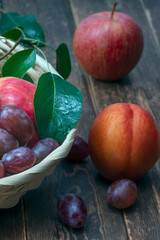
[[[129,179],[116,180],[107,191],[108,202],[119,209],[130,207],[136,201],[137,195],[137,186]]]

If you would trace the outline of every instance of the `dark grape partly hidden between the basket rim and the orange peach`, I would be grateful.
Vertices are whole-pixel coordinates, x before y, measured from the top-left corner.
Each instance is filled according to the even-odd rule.
[[[89,155],[88,143],[81,137],[76,136],[67,159],[80,161]]]

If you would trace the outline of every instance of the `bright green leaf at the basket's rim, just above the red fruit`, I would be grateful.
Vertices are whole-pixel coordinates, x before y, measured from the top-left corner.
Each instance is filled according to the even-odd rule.
[[[27,49],[12,55],[3,65],[2,76],[13,76],[23,78],[28,69],[30,69],[36,61],[36,50]]]

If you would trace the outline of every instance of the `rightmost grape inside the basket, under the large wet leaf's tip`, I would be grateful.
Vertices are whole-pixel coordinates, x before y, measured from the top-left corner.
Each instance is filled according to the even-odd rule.
[[[59,144],[53,138],[44,138],[40,140],[33,148],[33,152],[36,155],[36,163],[39,163],[49,153],[59,147]]]

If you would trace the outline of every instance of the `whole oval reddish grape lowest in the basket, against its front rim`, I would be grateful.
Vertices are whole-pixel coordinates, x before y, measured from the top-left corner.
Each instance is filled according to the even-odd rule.
[[[2,157],[5,170],[11,173],[20,173],[35,164],[36,156],[28,147],[19,147],[5,153]]]

